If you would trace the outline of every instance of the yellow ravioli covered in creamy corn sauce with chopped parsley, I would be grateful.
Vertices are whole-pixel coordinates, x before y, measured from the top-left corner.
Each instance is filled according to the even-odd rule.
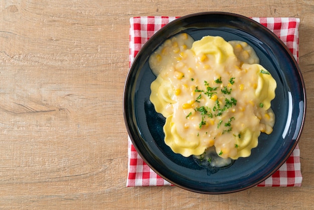
[[[186,33],[149,57],[156,79],[150,100],[166,118],[165,143],[185,157],[215,147],[222,158],[248,157],[275,121],[276,81],[241,41]]]

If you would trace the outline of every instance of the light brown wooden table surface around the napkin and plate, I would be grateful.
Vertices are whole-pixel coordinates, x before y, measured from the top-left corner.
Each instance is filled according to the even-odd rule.
[[[126,187],[129,18],[206,11],[300,19],[301,187]],[[309,0],[0,1],[0,208],[314,209],[313,12]]]

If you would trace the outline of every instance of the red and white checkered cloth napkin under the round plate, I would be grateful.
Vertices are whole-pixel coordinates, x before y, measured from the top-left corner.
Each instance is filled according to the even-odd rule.
[[[143,44],[158,30],[178,17],[134,17],[130,19],[130,64]],[[252,18],[276,34],[298,61],[298,18]],[[287,161],[257,186],[301,186],[298,145]],[[171,185],[141,159],[128,138],[128,175],[126,186]]]

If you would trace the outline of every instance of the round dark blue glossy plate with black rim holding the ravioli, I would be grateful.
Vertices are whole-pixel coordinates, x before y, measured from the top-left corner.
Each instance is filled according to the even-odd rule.
[[[226,41],[247,42],[277,82],[272,108],[276,122],[270,135],[261,134],[250,157],[215,174],[198,166],[192,157],[175,154],[164,143],[165,119],[149,101],[155,79],[148,66],[149,55],[166,39],[181,33],[195,40],[221,36]],[[200,193],[229,193],[255,186],[275,172],[295,148],[304,123],[305,88],[300,69],[288,48],[257,22],[230,13],[192,14],[166,25],[142,47],[126,78],[123,111],[128,134],[139,155],[160,176],[187,190]]]

